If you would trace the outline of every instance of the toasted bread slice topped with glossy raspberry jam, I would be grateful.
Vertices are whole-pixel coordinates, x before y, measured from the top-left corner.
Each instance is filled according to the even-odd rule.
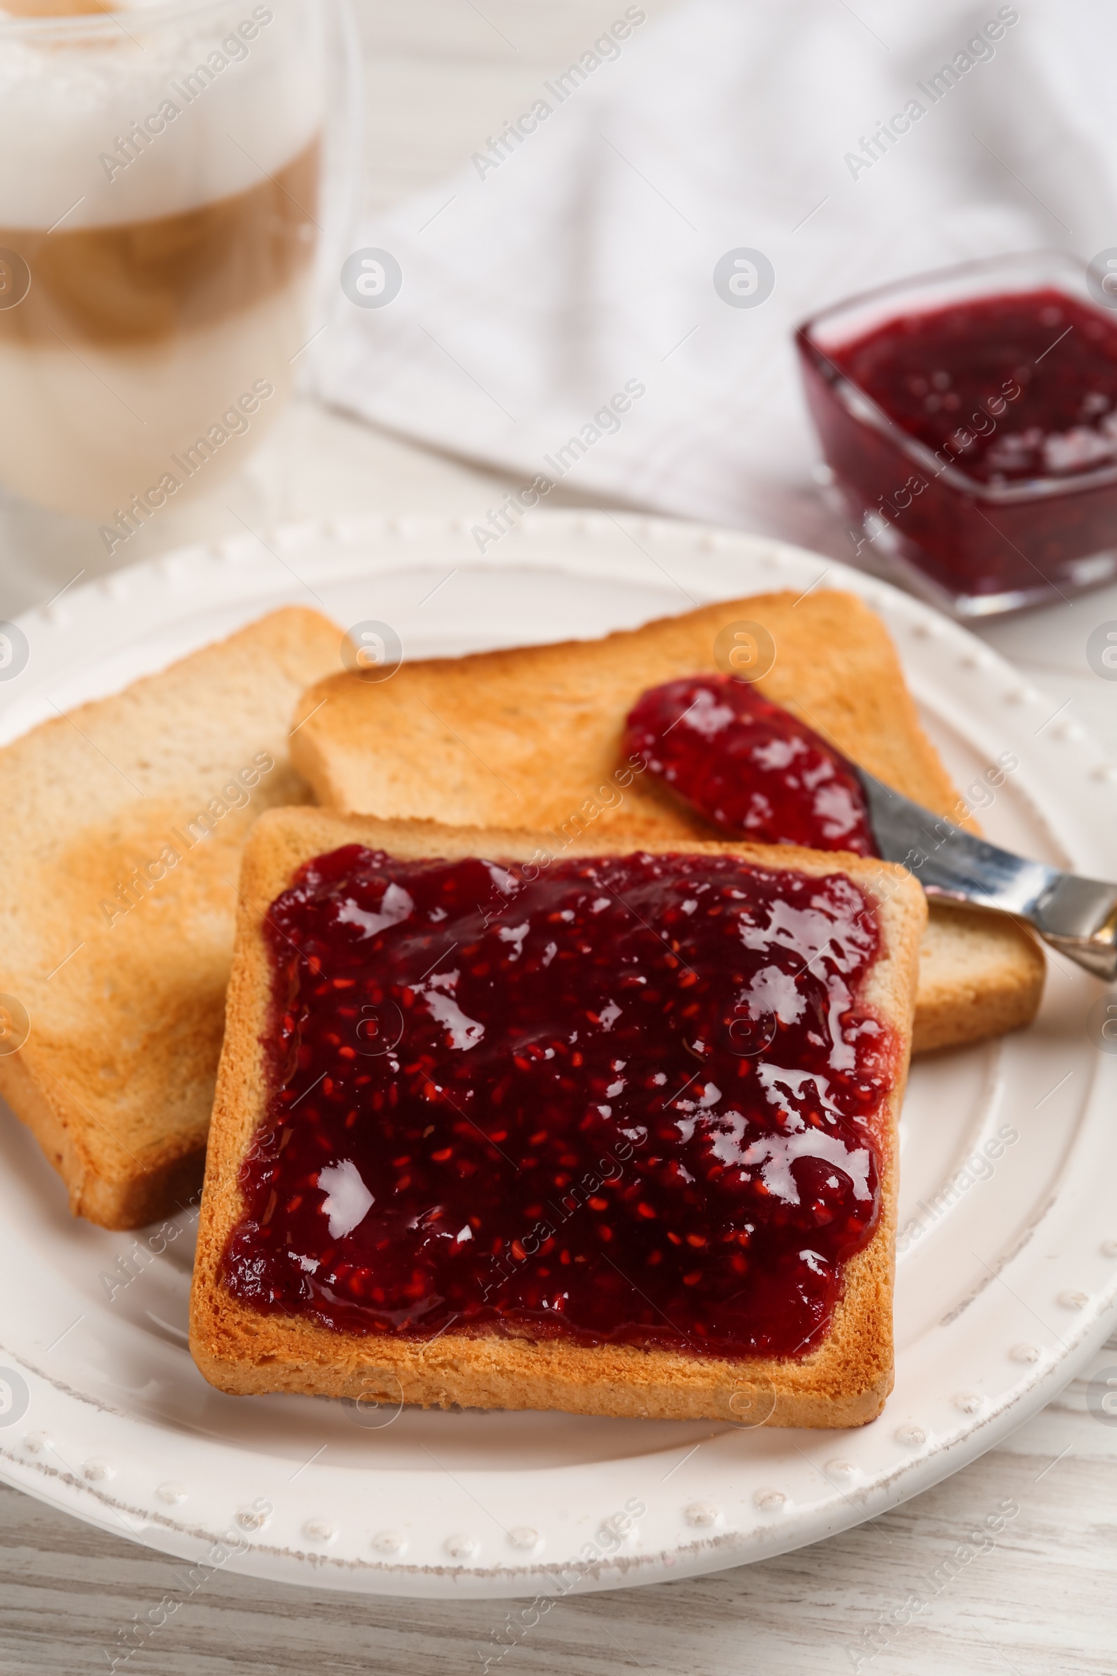
[[[871,858],[265,815],[203,1374],[362,1408],[872,1420],[924,922]]]

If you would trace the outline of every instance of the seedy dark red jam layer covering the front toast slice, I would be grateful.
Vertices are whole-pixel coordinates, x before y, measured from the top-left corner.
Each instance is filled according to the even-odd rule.
[[[224,1279],[360,1334],[806,1353],[879,1215],[872,905],[730,856],[350,845],[268,913]]]

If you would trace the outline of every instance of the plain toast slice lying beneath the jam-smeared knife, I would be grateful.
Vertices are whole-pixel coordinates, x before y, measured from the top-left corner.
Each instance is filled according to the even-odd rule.
[[[618,784],[621,732],[648,687],[717,669],[718,635],[742,620],[775,644],[759,682],[767,697],[898,791],[975,826],[919,726],[888,630],[841,592],[755,595],[603,640],[404,664],[390,680],[337,674],[303,696],[295,761],[318,803],[347,811],[549,828],[559,850],[616,825],[710,838],[650,774]],[[1023,927],[938,903],[931,927],[916,1053],[1032,1022],[1045,960]]]

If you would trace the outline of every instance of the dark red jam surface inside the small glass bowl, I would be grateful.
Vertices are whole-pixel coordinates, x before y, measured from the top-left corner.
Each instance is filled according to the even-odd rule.
[[[889,419],[980,483],[1117,459],[1117,318],[1062,292],[901,315],[832,359]]]

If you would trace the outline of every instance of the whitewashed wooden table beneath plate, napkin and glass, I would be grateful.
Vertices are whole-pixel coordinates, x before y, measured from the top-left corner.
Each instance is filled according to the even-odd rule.
[[[643,0],[650,15],[670,0]],[[452,173],[522,96],[611,22],[606,0],[357,0],[368,64],[368,203],[389,204]],[[234,511],[278,498],[281,515],[461,511],[511,488],[313,406],[295,406],[243,483],[164,521],[159,546],[236,528]],[[553,504],[571,494],[554,493]],[[234,511],[228,508],[233,506]],[[8,543],[33,520],[8,515]],[[75,558],[75,551],[79,556]],[[147,548],[146,551],[151,551]],[[28,568],[0,558],[3,610],[49,598],[94,548],[80,533]],[[144,551],[129,553],[129,560]],[[1052,699],[1117,751],[1117,687],[1085,662],[1085,640],[1117,618],[1117,588],[986,630]],[[1117,845],[1115,845],[1117,868]],[[983,1460],[872,1525],[708,1579],[568,1596],[499,1666],[502,1676],[1018,1676],[1117,1671],[1117,1416],[1087,1406],[1087,1383],[1117,1378],[1117,1334],[1084,1379]],[[996,1545],[946,1565],[975,1522],[1015,1513]],[[971,1552],[971,1550],[970,1550]],[[176,1562],[0,1487],[0,1671],[109,1668],[117,1629],[174,1587]],[[938,1572],[938,1582],[936,1582]],[[913,1611],[906,1602],[921,1597]],[[373,1601],[214,1574],[126,1668],[132,1676],[291,1671],[479,1671],[512,1602]],[[504,1637],[506,1639],[506,1637]]]

